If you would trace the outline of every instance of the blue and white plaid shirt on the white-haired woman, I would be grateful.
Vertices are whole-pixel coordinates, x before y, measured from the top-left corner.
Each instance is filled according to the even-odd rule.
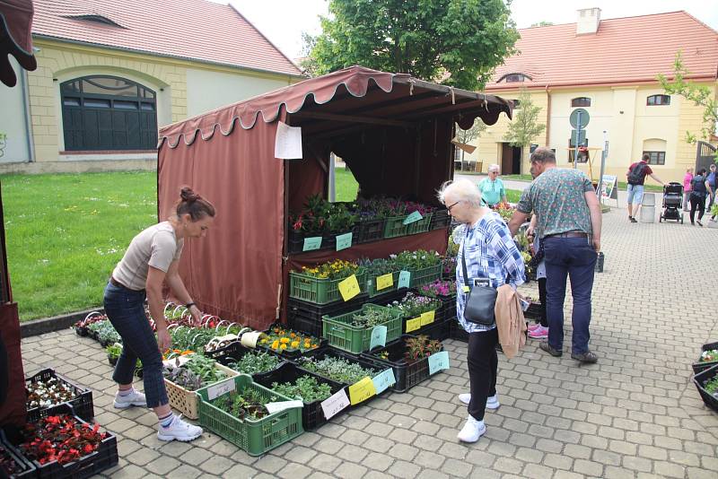
[[[466,252],[468,283],[472,278],[489,278],[495,288],[511,284],[515,290],[524,281],[523,258],[513,242],[509,227],[498,213],[486,213],[476,224],[462,224],[454,233],[461,244],[456,261],[456,317],[468,333],[488,331],[496,326],[484,327],[464,318],[466,294],[463,292],[464,275],[461,266]]]

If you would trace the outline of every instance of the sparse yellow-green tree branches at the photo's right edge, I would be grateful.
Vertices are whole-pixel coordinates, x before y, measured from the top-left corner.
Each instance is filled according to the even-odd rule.
[[[680,50],[676,53],[676,59],[673,61],[673,80],[669,81],[664,74],[658,75],[658,82],[661,87],[669,95],[680,95],[688,101],[692,101],[696,107],[703,108],[703,127],[701,128],[701,136],[704,139],[710,137],[716,132],[718,125],[718,102],[715,100],[713,88],[708,85],[699,85],[686,77],[690,74],[686,65],[683,64],[683,55]],[[697,140],[696,134],[687,131],[686,141],[689,144],[695,144]],[[715,161],[718,163],[718,151],[716,151]]]

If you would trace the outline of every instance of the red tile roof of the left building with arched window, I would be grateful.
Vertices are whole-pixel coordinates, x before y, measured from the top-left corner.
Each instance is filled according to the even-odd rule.
[[[32,33],[38,37],[302,74],[230,5],[206,0],[34,0],[34,4]],[[86,20],[87,16],[105,17],[115,24]]]

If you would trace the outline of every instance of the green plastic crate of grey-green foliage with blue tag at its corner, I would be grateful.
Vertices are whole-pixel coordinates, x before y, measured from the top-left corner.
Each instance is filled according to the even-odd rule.
[[[362,309],[352,311],[335,317],[322,317],[322,332],[327,338],[329,345],[348,351],[349,353],[362,353],[369,350],[369,344],[372,340],[373,327],[357,327],[352,326],[352,318],[358,312],[366,312],[368,309],[386,309],[384,306],[376,304],[364,304]],[[385,323],[377,326],[387,327],[387,343],[393,341],[401,335],[402,321],[401,313],[398,311],[390,311],[391,317]]]

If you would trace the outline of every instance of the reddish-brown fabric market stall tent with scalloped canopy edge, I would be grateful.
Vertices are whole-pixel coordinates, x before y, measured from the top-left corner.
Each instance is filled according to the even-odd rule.
[[[286,254],[289,212],[326,197],[334,152],[363,196],[435,203],[451,179],[454,123],[495,124],[510,102],[362,66],[312,78],[166,126],[160,132],[158,213],[171,214],[182,185],[217,207],[205,240],[189,242],[180,274],[207,312],[266,327],[279,317],[291,267],[328,257],[384,257],[407,248],[446,248],[446,231],[357,245],[340,252]],[[302,127],[303,160],[275,157],[277,125]]]

